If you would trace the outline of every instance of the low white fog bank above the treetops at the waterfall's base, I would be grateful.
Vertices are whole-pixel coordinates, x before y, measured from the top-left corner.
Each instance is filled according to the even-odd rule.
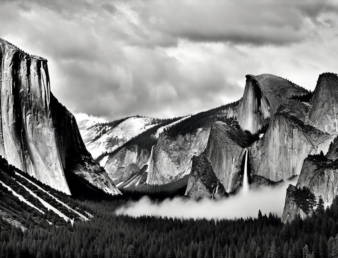
[[[139,217],[143,215],[171,217],[180,219],[235,219],[235,218],[256,218],[258,210],[262,213],[269,212],[283,214],[286,189],[289,184],[295,185],[297,177],[287,180],[275,187],[263,186],[257,190],[250,190],[247,195],[243,195],[242,190],[236,195],[212,200],[203,198],[199,201],[175,197],[161,202],[154,202],[145,196],[139,201],[129,202],[116,209],[117,215],[129,215]]]

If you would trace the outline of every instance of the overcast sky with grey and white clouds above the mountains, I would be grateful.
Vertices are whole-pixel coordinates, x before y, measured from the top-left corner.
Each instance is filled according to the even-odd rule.
[[[246,74],[313,90],[338,73],[329,1],[0,0],[0,37],[48,59],[72,113],[173,117],[239,99]]]

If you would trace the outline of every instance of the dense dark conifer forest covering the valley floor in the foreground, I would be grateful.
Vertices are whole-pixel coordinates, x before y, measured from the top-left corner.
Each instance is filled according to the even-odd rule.
[[[77,201],[95,217],[74,225],[30,224],[24,232],[1,221],[0,257],[333,258],[338,255],[338,198],[326,210],[290,224],[258,218],[208,221],[116,216],[125,200]]]

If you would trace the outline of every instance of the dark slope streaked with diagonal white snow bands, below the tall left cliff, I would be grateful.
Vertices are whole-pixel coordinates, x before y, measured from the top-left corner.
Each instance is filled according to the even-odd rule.
[[[73,224],[74,221],[88,221],[92,217],[68,195],[8,165],[1,157],[0,196],[0,218],[14,226],[37,221],[40,225],[46,221],[54,225],[68,221]],[[22,229],[25,230],[25,227]]]

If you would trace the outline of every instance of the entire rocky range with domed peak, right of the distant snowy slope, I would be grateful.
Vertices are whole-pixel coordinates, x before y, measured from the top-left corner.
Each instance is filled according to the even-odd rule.
[[[220,197],[242,187],[248,149],[251,188],[300,175],[296,188],[309,188],[317,200],[321,193],[329,205],[338,191],[332,158],[338,156],[337,148],[332,147],[338,135],[337,78],[333,73],[321,74],[312,93],[278,76],[247,75],[238,102],[191,115],[159,134],[155,127],[142,131],[152,139],[147,147],[140,148],[136,138],[131,138],[109,154],[105,169],[125,189],[167,185],[189,175],[186,195]],[[306,159],[321,152],[331,157],[325,163],[330,171],[309,165],[313,159]],[[307,173],[318,171],[317,179],[307,182],[305,167]],[[326,176],[319,180],[319,175]],[[333,180],[332,185],[324,185],[325,180]],[[316,186],[311,187],[313,184]],[[316,190],[319,188],[322,191]],[[292,198],[286,200],[283,220],[290,220],[301,212],[289,205]]]

